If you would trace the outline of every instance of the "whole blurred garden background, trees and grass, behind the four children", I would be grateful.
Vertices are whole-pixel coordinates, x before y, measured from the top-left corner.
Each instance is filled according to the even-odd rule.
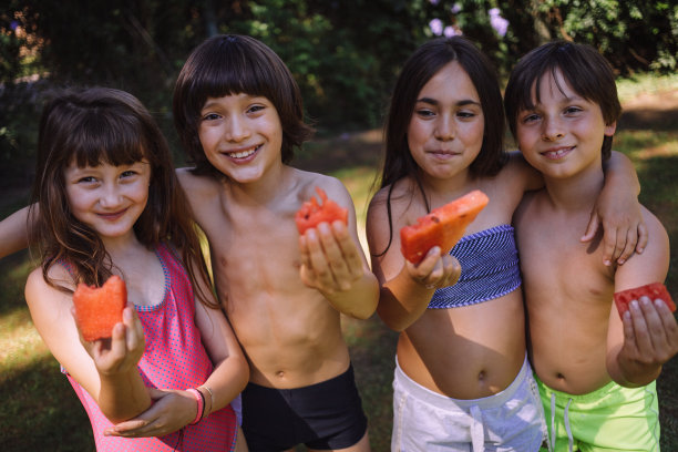
[[[288,64],[316,138],[296,166],[339,177],[362,234],[379,166],[379,127],[397,72],[419,44],[462,33],[505,80],[535,45],[573,39],[614,65],[625,115],[615,148],[635,163],[641,202],[671,238],[667,286],[678,298],[678,3],[675,0],[4,0],[0,9],[0,218],[25,205],[38,122],[54,88],[126,90],[182,152],[172,89],[191,50],[216,33],[260,39]],[[93,450],[68,381],[23,301],[28,251],[0,260],[0,450]],[[345,319],[356,379],[377,452],[389,449],[396,333],[377,317]],[[661,445],[678,450],[678,362],[658,380]]]

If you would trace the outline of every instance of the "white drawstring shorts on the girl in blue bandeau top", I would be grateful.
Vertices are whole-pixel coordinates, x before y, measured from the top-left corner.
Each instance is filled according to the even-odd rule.
[[[452,399],[414,382],[396,360],[392,452],[533,452],[546,439],[540,392],[527,359],[502,392]]]

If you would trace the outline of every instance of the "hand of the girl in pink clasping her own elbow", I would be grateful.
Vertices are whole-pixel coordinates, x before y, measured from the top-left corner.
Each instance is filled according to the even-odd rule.
[[[148,389],[154,403],[134,419],[104,431],[105,436],[163,436],[187,425],[195,419],[197,403],[187,391]]]

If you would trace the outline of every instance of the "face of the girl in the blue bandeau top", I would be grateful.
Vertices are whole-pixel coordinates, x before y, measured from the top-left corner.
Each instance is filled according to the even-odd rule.
[[[485,119],[471,78],[456,62],[421,89],[408,126],[408,146],[429,176],[466,173],[483,144]]]

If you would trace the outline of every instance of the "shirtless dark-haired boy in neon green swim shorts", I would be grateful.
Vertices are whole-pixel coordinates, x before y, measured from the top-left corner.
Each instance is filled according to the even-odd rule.
[[[552,42],[526,54],[506,86],[506,116],[545,187],[515,214],[530,356],[559,451],[658,451],[655,380],[678,351],[678,325],[661,300],[640,297],[623,316],[613,295],[662,282],[665,228],[643,208],[649,240],[623,265],[599,238],[577,234],[604,183],[603,161],[622,107],[613,72],[593,48]]]

